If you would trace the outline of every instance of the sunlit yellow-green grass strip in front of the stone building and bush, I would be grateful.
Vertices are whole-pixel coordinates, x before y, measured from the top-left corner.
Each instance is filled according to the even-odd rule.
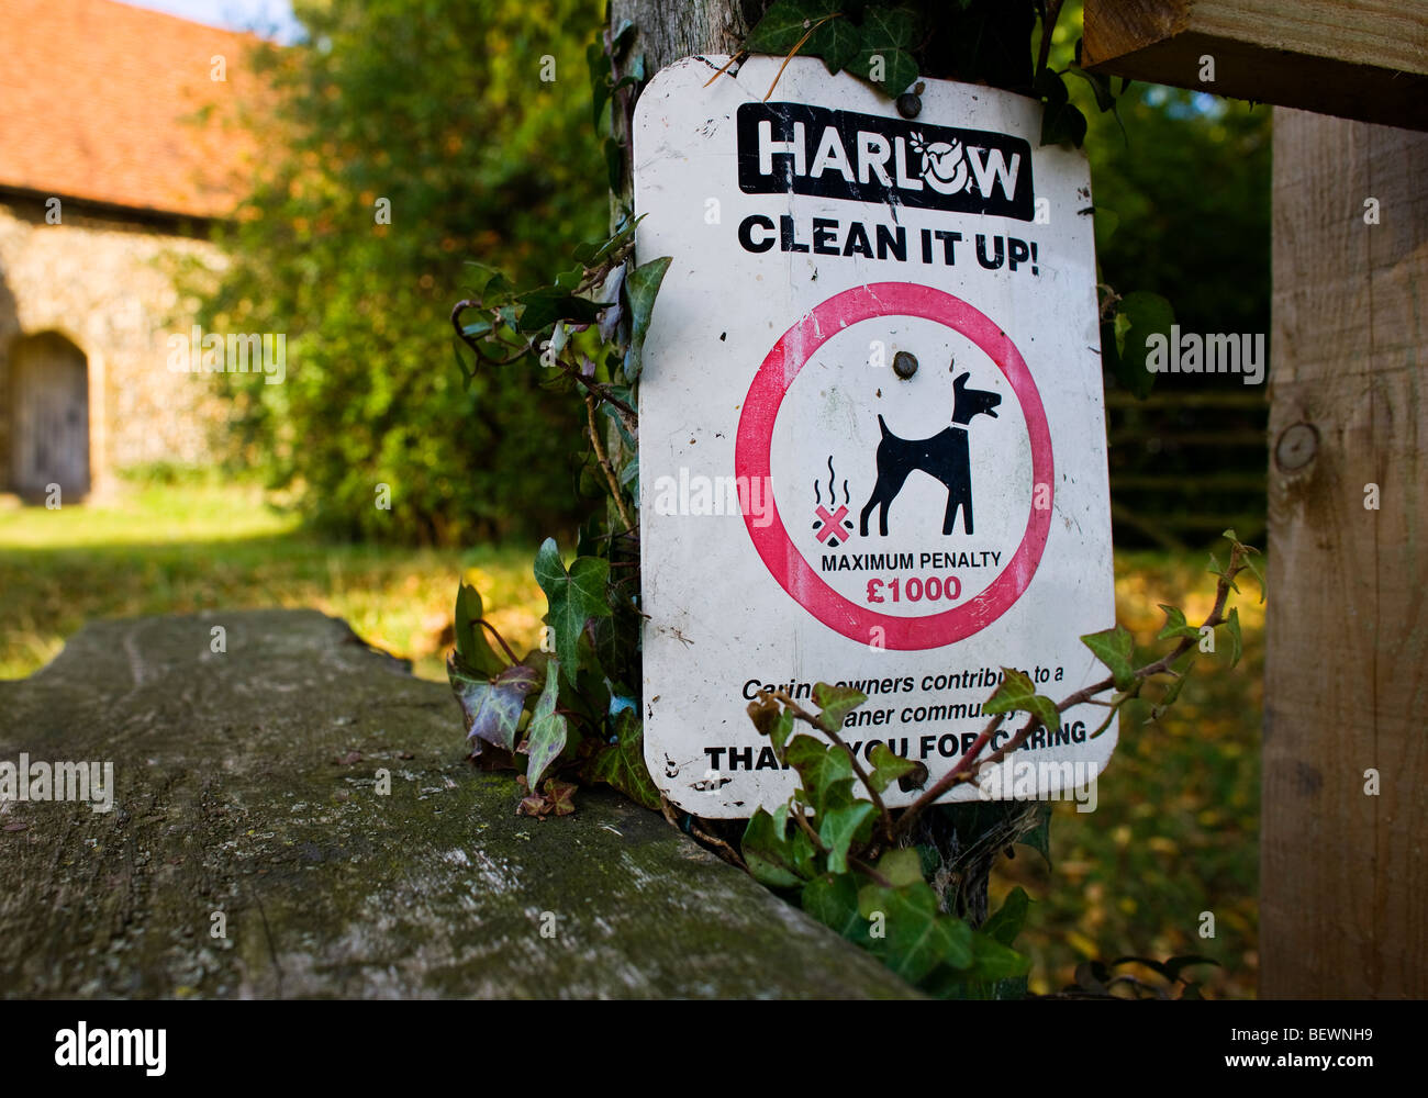
[[[314,607],[444,681],[463,573],[513,647],[536,644],[533,555],[323,541],[244,485],[134,485],[107,504],[0,510],[0,678],[43,667],[90,618]]]

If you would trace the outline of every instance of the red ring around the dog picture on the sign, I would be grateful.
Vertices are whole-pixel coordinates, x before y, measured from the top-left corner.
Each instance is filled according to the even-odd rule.
[[[880,614],[844,598],[813,570],[788,537],[778,514],[778,504],[773,498],[770,453],[774,421],[778,418],[778,408],[788,387],[824,343],[851,324],[887,316],[920,317],[944,324],[977,344],[997,364],[1011,391],[1017,394],[1027,420],[1027,434],[1031,440],[1032,497],[1038,484],[1045,484],[1048,491],[1052,490],[1051,430],[1047,425],[1047,413],[1041,406],[1037,383],[1031,378],[1021,351],[1005,331],[960,297],[911,283],[873,283],[844,290],[817,306],[783,334],[748,387],[744,411],[738,420],[734,471],[738,477],[748,478],[743,481],[745,484],[753,484],[754,478],[760,477],[763,484],[770,485],[765,498],[771,521],[763,527],[755,525],[754,515],[745,507],[744,524],[764,565],[795,603],[850,640],[867,644],[874,637],[873,630],[881,628],[883,647],[920,651],[941,648],[971,637],[1005,614],[1021,597],[1037,573],[1041,551],[1051,533],[1051,500],[1047,500],[1044,510],[1032,505],[1021,544],[987,590],[941,614],[925,617]]]

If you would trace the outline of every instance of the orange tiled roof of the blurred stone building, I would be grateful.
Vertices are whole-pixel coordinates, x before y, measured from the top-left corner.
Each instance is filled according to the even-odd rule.
[[[223,217],[251,177],[258,43],[113,0],[0,0],[0,187]],[[210,77],[214,54],[227,80]],[[186,121],[203,109],[203,124]]]

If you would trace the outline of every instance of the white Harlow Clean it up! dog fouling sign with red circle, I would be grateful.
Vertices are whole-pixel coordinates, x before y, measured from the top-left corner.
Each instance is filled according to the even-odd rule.
[[[635,111],[637,248],[673,260],[640,388],[644,727],[673,802],[747,817],[795,784],[760,690],[857,687],[850,748],[935,780],[1000,668],[1055,698],[1104,675],[1078,638],[1114,587],[1084,157],[1011,93],[930,80],[904,119],[814,59],[767,101],[778,59],[708,83],[723,61]],[[952,797],[1070,795],[1100,720]]]

